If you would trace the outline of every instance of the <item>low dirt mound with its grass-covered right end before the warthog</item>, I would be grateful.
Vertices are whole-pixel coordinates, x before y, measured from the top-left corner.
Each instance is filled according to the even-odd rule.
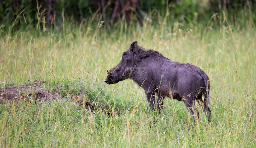
[[[70,99],[75,105],[91,112],[100,111],[113,117],[123,113],[122,107],[115,104],[111,99],[112,96],[104,92],[102,87],[92,89],[86,85],[80,79],[79,81],[64,79],[61,82],[55,80],[54,84],[49,81],[35,80],[29,85],[6,86],[0,88],[0,104]]]

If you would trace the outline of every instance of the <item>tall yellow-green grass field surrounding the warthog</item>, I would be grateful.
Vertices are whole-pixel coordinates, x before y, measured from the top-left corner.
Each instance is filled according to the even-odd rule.
[[[0,104],[1,147],[255,147],[255,25],[168,24],[1,31],[0,87],[18,95]],[[132,80],[104,83],[134,41],[205,71],[210,123],[198,103],[194,123],[183,102],[157,114]]]

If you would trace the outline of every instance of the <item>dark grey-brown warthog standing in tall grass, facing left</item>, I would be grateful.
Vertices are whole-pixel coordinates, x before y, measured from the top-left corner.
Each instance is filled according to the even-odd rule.
[[[131,78],[146,93],[149,106],[153,111],[155,104],[161,113],[163,100],[171,97],[183,101],[187,110],[196,121],[198,111],[194,106],[195,100],[202,106],[211,120],[211,110],[208,107],[210,83],[209,78],[200,68],[173,62],[163,54],[154,50],[145,50],[133,42],[123,53],[122,59],[112,70],[107,70],[107,84],[115,84]],[[157,102],[155,102],[157,98]],[[196,113],[194,113],[194,111]]]

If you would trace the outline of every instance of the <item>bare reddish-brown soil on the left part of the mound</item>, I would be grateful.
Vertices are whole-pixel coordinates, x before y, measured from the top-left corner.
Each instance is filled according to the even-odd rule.
[[[20,85],[0,88],[0,104],[4,102],[18,103],[20,100],[40,99],[49,100],[53,98],[54,92],[41,89],[42,82],[35,82],[33,85]]]

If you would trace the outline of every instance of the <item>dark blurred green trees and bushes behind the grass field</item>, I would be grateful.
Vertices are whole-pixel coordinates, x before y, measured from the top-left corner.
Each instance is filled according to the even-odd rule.
[[[179,22],[222,20],[244,23],[245,18],[255,22],[255,0],[2,0],[1,24],[15,23],[25,29],[27,25],[60,27],[63,17],[81,22],[90,19],[110,27],[121,21],[140,23],[157,21],[158,16]],[[168,13],[166,13],[168,12]]]

